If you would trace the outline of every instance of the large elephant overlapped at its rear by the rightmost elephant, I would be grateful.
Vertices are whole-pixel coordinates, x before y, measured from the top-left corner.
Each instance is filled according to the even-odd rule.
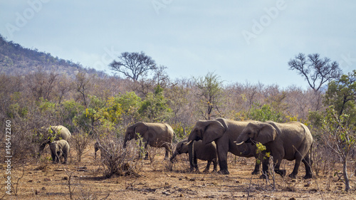
[[[188,137],[189,148],[192,148],[192,141],[203,140],[204,144],[215,142],[218,154],[220,174],[230,174],[227,166],[227,153],[231,152],[240,157],[256,157],[256,147],[243,144],[236,146],[234,141],[251,121],[234,121],[219,118],[216,120],[199,120]],[[190,155],[189,155],[190,156]],[[189,157],[189,162],[193,163],[193,158]],[[260,162],[256,160],[255,169],[252,174],[258,174]]]

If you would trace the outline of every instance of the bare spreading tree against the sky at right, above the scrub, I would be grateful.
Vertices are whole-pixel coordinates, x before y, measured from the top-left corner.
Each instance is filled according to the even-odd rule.
[[[299,53],[294,59],[288,62],[291,70],[297,70],[300,75],[308,81],[310,88],[318,92],[324,83],[339,78],[342,70],[335,61],[330,58],[320,58],[318,53],[309,54],[305,58],[303,53]]]

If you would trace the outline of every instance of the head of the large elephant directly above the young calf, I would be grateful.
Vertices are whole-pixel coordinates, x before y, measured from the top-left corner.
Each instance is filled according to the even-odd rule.
[[[203,140],[209,144],[224,135],[225,127],[217,120],[199,120],[188,137],[188,144],[194,140]]]

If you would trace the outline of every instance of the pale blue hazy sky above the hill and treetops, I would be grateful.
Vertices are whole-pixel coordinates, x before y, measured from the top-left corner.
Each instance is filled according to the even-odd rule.
[[[298,53],[356,69],[355,11],[352,0],[0,0],[0,34],[109,74],[120,53],[143,51],[172,80],[307,89],[288,66]]]

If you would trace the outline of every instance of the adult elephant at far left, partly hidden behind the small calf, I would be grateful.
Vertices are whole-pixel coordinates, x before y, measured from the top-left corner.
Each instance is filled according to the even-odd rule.
[[[43,152],[43,149],[46,147],[46,144],[50,144],[54,140],[68,140],[72,135],[70,134],[69,130],[62,125],[58,126],[51,126],[48,128],[41,128],[41,133],[43,134],[43,140],[40,145],[40,153]]]

